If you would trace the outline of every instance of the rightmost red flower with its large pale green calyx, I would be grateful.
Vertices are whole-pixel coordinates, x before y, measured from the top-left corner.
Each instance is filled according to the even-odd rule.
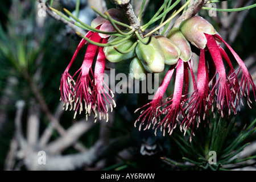
[[[231,111],[237,114],[237,106],[240,108],[242,97],[246,96],[246,94],[247,104],[250,106],[250,88],[255,98],[256,87],[245,63],[229,44],[217,34],[207,20],[200,16],[193,16],[180,24],[180,31],[189,42],[201,50],[197,73],[197,88],[192,93],[189,104],[185,107],[189,111],[188,115],[181,123],[185,131],[192,125],[193,133],[196,118],[199,118],[197,123],[199,124],[200,116],[203,115],[204,119],[205,114],[209,114],[210,105],[213,106],[216,103],[221,117],[224,117],[225,114],[230,115]],[[219,45],[221,42],[228,47],[240,66],[238,72],[242,70],[240,83],[237,77],[238,72],[234,70],[229,56]],[[223,60],[226,61],[229,69],[225,68]],[[226,72],[226,70],[229,71]],[[214,94],[216,94],[216,98]]]

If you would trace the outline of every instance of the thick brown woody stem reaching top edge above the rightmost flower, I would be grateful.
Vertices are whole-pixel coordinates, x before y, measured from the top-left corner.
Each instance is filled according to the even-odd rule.
[[[192,16],[195,16],[201,8],[207,3],[208,0],[194,0],[191,1],[191,5],[188,7],[188,9],[176,20],[174,23],[173,28],[179,27],[180,23],[183,22],[185,19],[191,18]]]

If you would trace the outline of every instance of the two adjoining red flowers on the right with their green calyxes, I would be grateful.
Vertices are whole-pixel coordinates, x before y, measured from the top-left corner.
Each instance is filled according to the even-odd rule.
[[[254,98],[256,90],[253,78],[250,76],[245,63],[229,44],[218,35],[207,20],[200,16],[193,16],[184,20],[179,28],[173,28],[168,32],[167,38],[176,46],[176,52],[167,52],[168,46],[160,43],[166,59],[165,63],[170,63],[168,57],[171,56],[178,57],[178,59],[171,61],[172,65],[159,86],[154,99],[136,110],[142,110],[141,115],[135,122],[136,124],[141,121],[140,129],[144,124],[146,124],[144,129],[149,128],[151,124],[154,126],[157,124],[156,129],[158,127],[161,130],[163,129],[163,134],[166,131],[165,129],[168,129],[168,133],[172,134],[181,115],[180,129],[184,130],[185,133],[188,127],[192,126],[191,134],[193,134],[194,127],[198,127],[201,119],[205,120],[207,115],[209,116],[209,111],[214,110],[214,105],[216,105],[221,117],[226,114],[230,115],[232,111],[236,114],[237,107],[240,108],[240,102],[243,104],[243,96],[247,95],[247,104],[250,106],[250,88],[253,91]],[[165,40],[162,37],[161,39]],[[200,50],[197,80],[191,67],[193,57],[190,43]],[[240,66],[238,70],[234,70],[228,54],[220,46],[220,43],[224,43],[236,59]],[[179,56],[177,56],[177,53],[179,53]],[[224,63],[228,65],[228,68],[225,68]],[[174,93],[163,104],[163,94],[171,80],[174,69],[176,69]],[[240,71],[242,71],[241,81],[237,77]],[[189,72],[191,72],[194,88],[191,94],[188,94]],[[163,115],[163,119],[160,118],[160,115]]]

